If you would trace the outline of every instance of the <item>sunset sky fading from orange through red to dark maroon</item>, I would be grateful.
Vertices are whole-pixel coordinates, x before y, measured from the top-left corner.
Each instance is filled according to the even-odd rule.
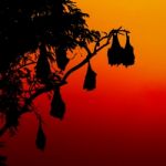
[[[39,98],[46,149],[35,149],[35,117],[24,115],[6,149],[9,166],[165,166],[166,1],[76,2],[90,13],[91,29],[108,31],[122,25],[131,31],[135,65],[110,66],[107,49],[102,50],[92,60],[96,90],[82,89],[86,66],[71,75],[62,89],[66,103],[62,122],[49,117],[49,104]]]

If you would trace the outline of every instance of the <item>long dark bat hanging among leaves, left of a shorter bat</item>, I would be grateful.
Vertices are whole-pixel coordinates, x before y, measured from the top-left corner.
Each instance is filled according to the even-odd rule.
[[[46,56],[48,52],[45,45],[40,46],[40,55],[35,66],[35,74],[42,82],[46,82],[51,74],[50,63]]]

